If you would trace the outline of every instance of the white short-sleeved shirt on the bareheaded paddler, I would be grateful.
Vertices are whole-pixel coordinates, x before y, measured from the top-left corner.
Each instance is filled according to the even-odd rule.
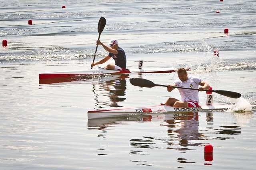
[[[174,84],[176,84],[176,86],[178,87],[198,88],[198,84],[201,81],[202,80],[198,77],[188,76],[187,81],[182,82],[180,79],[178,79],[174,81]],[[191,101],[191,100],[195,102],[199,101],[197,90],[188,90],[188,89],[182,89],[182,88],[178,88],[178,90],[180,92],[182,101]]]

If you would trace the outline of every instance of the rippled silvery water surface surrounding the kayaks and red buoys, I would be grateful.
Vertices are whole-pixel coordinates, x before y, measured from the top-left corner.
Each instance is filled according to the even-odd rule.
[[[88,69],[100,16],[128,68],[190,67],[216,90],[214,103],[256,104],[255,0],[1,1],[0,169],[248,169],[255,167],[256,112],[232,110],[88,120],[87,111],[151,106],[178,90],[139,88],[129,78],[171,84],[169,74],[39,81],[38,73]],[[61,6],[66,8],[62,9]],[[216,14],[216,10],[220,14]],[[33,25],[27,25],[28,20]],[[224,28],[230,33],[224,35]],[[214,49],[220,57],[213,57]],[[106,55],[98,48],[96,61]],[[110,60],[108,63],[112,63]],[[101,66],[104,66],[102,64]],[[206,101],[199,93],[200,103]],[[213,146],[212,161],[204,145]]]

